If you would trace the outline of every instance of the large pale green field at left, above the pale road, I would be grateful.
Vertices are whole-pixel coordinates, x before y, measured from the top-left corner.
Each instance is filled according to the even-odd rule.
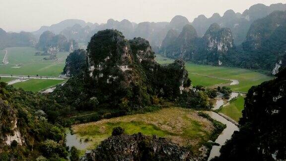
[[[59,60],[44,60],[48,56],[35,56],[38,52],[35,48],[15,47],[6,48],[8,51],[7,65],[0,65],[0,74],[5,75],[30,75],[30,76],[54,76],[57,77],[63,72],[68,52],[57,54]],[[4,52],[0,51],[0,58]],[[20,68],[15,68],[17,64],[22,64]]]

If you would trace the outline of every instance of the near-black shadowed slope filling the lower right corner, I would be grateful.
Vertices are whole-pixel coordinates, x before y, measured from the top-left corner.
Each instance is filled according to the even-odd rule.
[[[276,77],[248,91],[240,131],[221,148],[221,156],[215,160],[286,159],[286,69]]]

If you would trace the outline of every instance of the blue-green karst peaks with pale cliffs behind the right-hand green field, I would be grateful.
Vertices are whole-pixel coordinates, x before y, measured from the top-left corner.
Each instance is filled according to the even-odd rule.
[[[209,27],[202,38],[198,37],[192,25],[186,25],[176,39],[174,36],[170,31],[161,50],[169,58],[220,66],[227,61],[225,56],[234,49],[230,29],[220,28],[216,23]]]

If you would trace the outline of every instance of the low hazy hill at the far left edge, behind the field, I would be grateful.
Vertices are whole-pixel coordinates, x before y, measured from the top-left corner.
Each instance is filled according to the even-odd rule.
[[[0,48],[33,47],[36,43],[36,38],[29,32],[7,33],[0,28]]]

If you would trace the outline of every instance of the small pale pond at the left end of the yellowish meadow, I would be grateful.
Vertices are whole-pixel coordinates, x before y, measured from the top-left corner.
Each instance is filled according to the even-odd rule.
[[[74,146],[75,148],[79,149],[79,150],[84,150],[86,149],[88,146],[90,146],[89,143],[85,143],[84,140],[82,139],[80,141],[80,137],[78,137],[77,135],[71,135],[71,131],[67,130],[66,131],[67,137],[66,137],[66,144],[67,146],[69,146],[70,148],[72,146]]]

